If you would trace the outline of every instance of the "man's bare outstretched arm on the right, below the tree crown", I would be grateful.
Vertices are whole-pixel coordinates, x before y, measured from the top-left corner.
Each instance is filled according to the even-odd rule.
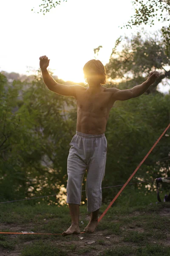
[[[117,88],[109,88],[109,90],[113,92],[114,100],[127,100],[131,98],[136,98],[142,95],[159,76],[159,72],[153,71],[149,74],[147,81],[144,81],[142,84],[134,86],[132,89],[119,90]]]

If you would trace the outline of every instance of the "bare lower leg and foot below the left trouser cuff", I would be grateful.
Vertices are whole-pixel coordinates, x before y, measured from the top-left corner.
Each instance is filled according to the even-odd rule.
[[[67,231],[63,232],[62,234],[67,235],[77,235],[80,233],[79,229],[79,204],[68,204],[70,215],[71,215],[71,226],[68,228]]]

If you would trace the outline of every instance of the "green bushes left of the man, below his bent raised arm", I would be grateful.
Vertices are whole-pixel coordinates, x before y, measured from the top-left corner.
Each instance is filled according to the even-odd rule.
[[[66,119],[63,108],[73,99],[48,90],[40,74],[13,86],[0,78],[0,84],[5,82],[0,98],[1,200],[57,193],[66,179],[68,144],[74,134],[74,122]],[[19,93],[23,99],[18,99]]]

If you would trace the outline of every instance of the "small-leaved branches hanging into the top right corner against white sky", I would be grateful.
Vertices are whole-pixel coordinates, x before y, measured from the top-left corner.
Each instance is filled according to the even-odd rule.
[[[141,24],[154,25],[154,18],[158,21],[170,21],[170,0],[135,0],[132,1],[135,15],[124,27],[137,26]],[[122,27],[121,27],[122,28]],[[170,53],[170,23],[169,26],[162,26],[161,32],[167,55]]]

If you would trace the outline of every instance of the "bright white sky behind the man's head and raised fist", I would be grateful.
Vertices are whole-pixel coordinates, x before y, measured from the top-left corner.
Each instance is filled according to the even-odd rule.
[[[83,66],[95,57],[105,65],[120,35],[139,29],[121,29],[133,15],[131,0],[68,0],[50,12],[37,14],[42,0],[8,0],[0,5],[0,71],[31,74],[40,67],[39,57],[48,56],[48,68],[65,81],[83,82]],[[31,9],[34,8],[34,11]],[[162,23],[144,26],[147,32]],[[3,39],[3,40],[2,40]],[[29,73],[28,73],[29,71]],[[161,92],[170,86],[159,85]]]

